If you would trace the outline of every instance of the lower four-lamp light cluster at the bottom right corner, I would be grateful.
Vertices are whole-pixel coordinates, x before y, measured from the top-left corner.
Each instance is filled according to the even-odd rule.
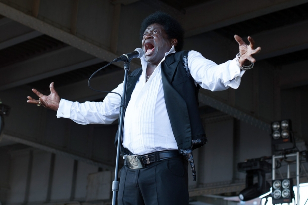
[[[274,180],[272,187],[273,204],[290,203],[294,199],[292,179]]]

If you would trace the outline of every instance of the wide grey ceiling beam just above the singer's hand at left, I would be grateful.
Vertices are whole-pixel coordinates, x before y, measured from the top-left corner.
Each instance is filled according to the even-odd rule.
[[[65,48],[0,68],[0,91],[103,62],[79,49]]]

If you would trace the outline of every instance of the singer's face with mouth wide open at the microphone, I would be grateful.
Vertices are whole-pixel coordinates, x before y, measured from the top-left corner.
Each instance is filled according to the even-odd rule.
[[[148,64],[158,65],[165,53],[172,48],[172,41],[173,39],[168,39],[162,25],[154,23],[148,26],[142,39],[142,49]]]

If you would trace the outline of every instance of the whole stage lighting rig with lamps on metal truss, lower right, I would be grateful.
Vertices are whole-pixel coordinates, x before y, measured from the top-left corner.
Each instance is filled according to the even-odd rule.
[[[265,205],[269,197],[272,198],[273,204],[291,203],[295,199],[295,195],[293,179],[290,177],[290,165],[295,162],[296,186],[299,190],[300,157],[306,158],[306,162],[308,162],[308,151],[306,148],[300,151],[296,147],[291,120],[275,121],[271,124],[271,130],[273,156],[248,159],[237,164],[239,172],[246,172],[246,188],[239,193],[239,198],[242,201],[248,201],[269,192],[271,185],[265,180],[265,174],[272,171],[272,192],[263,197],[266,198]],[[275,155],[275,153],[278,155]],[[287,161],[288,157],[296,157],[296,160]],[[271,160],[272,164],[266,160]],[[287,177],[276,179],[275,170],[281,167],[282,161],[287,162]],[[257,177],[257,180],[255,180],[255,177]],[[257,183],[254,184],[254,181],[257,181]],[[297,193],[298,202],[299,193]]]

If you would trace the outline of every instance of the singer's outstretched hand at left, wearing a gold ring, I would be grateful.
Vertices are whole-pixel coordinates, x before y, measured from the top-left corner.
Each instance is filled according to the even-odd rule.
[[[57,111],[59,108],[60,97],[54,88],[54,82],[50,83],[49,89],[50,94],[48,96],[43,95],[36,89],[32,89],[32,92],[34,92],[39,97],[39,100],[35,100],[32,97],[28,96],[27,103],[36,104],[38,106],[42,105],[45,108]]]

